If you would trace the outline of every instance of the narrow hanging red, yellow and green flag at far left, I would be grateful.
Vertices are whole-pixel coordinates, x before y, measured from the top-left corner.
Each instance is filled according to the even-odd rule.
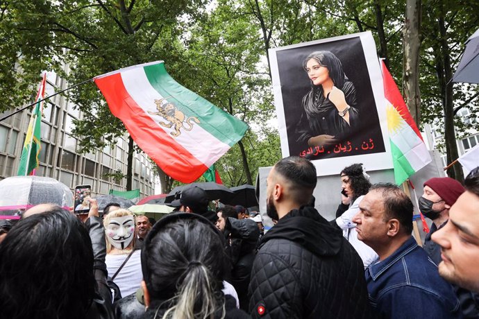
[[[26,131],[24,148],[20,156],[20,164],[18,166],[17,175],[30,175],[33,170],[38,167],[38,155],[40,155],[40,124],[42,123],[43,102],[45,96],[45,80],[47,74],[43,74],[42,83],[38,89],[37,98],[35,98],[35,109],[33,109],[28,130]],[[32,174],[34,175],[34,174]]]

